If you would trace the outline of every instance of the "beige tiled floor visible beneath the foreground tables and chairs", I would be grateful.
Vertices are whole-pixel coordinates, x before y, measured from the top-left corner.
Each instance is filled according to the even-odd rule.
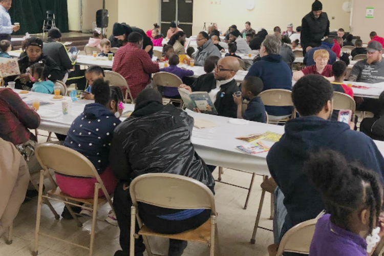
[[[39,136],[40,137],[40,136]],[[45,141],[40,137],[40,141]],[[215,178],[218,171],[215,170]],[[235,170],[224,169],[223,181],[235,183],[241,186],[249,186],[251,175]],[[262,182],[261,176],[256,176],[252,194],[249,200],[248,209],[243,206],[247,196],[247,190],[217,183],[216,205],[219,227],[219,242],[221,255],[242,255],[242,256],[267,256],[267,246],[273,243],[272,232],[259,229],[256,243],[250,244],[252,229],[256,218]],[[37,199],[24,203],[20,208],[19,214],[14,222],[13,243],[7,245],[6,234],[0,238],[0,256],[29,256],[33,250],[35,236],[35,220]],[[59,202],[52,202],[52,205],[61,214],[63,205]],[[270,215],[270,195],[267,193],[262,213],[261,226],[272,228],[272,221],[268,220]],[[108,214],[109,207],[104,205],[98,211],[98,218],[103,220]],[[80,243],[84,246],[89,245],[89,234],[91,221],[81,217],[85,221],[82,228],[77,227],[73,220],[55,220],[52,212],[46,205],[42,206],[41,228],[40,231],[58,236],[59,238],[71,242]],[[157,252],[164,253],[163,241],[151,241]],[[156,243],[156,245],[155,245]],[[119,228],[104,221],[97,222],[95,237],[95,256],[113,256],[119,246]],[[39,255],[41,256],[87,256],[88,250],[82,249],[67,243],[63,243],[48,237],[39,237]],[[165,253],[166,254],[166,251]],[[209,255],[208,247],[201,244],[189,243],[183,255]]]

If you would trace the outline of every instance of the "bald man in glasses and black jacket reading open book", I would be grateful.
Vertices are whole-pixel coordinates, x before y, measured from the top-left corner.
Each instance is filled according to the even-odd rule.
[[[215,72],[208,74],[200,88],[194,86],[191,88],[185,84],[181,84],[180,88],[189,92],[207,92],[214,102],[219,116],[237,118],[237,105],[234,103],[232,95],[240,91],[236,80],[234,80],[234,75],[239,69],[239,60],[236,57],[228,56],[219,60]],[[199,109],[195,109],[195,111],[200,112]]]

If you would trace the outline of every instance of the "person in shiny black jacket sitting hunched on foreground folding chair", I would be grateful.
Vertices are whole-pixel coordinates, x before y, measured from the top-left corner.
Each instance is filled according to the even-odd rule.
[[[193,127],[194,119],[186,112],[172,104],[164,106],[156,89],[145,89],[137,96],[131,117],[115,129],[110,163],[119,180],[113,205],[122,248],[115,256],[128,256],[130,251],[132,199],[129,186],[134,178],[148,173],[178,174],[196,179],[214,192],[215,180],[190,141]],[[210,217],[210,210],[165,209],[139,203],[139,215],[152,230],[174,234],[204,224]],[[171,239],[168,255],[180,256],[186,245],[185,241]],[[144,250],[140,237],[135,240],[135,256],[142,256]]]

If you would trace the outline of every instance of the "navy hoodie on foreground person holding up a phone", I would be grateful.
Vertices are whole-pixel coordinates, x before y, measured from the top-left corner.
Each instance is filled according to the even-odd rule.
[[[348,124],[309,116],[289,120],[285,134],[268,153],[271,176],[284,194],[288,214],[282,235],[294,225],[315,218],[325,207],[321,195],[302,172],[310,152],[321,148],[343,154],[348,162],[359,162],[383,177],[384,159],[376,144]]]

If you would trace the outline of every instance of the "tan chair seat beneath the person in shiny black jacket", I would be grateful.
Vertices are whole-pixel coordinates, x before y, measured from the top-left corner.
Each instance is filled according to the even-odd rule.
[[[143,236],[155,236],[155,237],[163,237],[169,239],[183,240],[183,241],[194,241],[198,243],[209,244],[210,243],[210,220],[205,222],[200,227],[188,230],[179,234],[161,234],[152,231],[145,225],[143,225],[139,231],[139,234]]]

